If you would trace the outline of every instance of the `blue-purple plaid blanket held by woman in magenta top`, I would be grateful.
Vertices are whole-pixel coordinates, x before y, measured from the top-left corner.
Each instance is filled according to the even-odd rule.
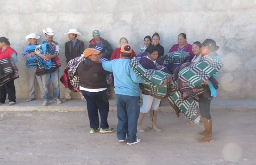
[[[189,58],[189,52],[187,51],[173,51],[160,57],[160,61],[163,61],[163,65],[167,67],[169,63],[182,63]]]

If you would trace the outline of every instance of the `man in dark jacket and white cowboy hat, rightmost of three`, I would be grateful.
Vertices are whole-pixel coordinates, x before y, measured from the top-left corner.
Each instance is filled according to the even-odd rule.
[[[79,33],[76,29],[74,28],[70,28],[69,31],[65,34],[68,34],[68,38],[70,41],[66,42],[65,44],[65,56],[67,59],[67,63],[76,58],[81,56],[81,54],[83,54],[84,51],[84,42],[81,40],[76,39],[76,37],[79,35],[81,36],[81,33]],[[71,100],[71,90],[69,88],[66,88],[65,91],[65,98],[62,101],[69,101]],[[86,101],[84,99],[83,94],[81,94],[81,100]]]

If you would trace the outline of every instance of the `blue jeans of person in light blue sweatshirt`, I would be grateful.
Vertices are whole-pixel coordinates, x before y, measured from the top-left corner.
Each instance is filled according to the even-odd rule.
[[[119,140],[124,140],[127,136],[127,142],[137,141],[137,120],[140,114],[140,97],[116,94],[117,106],[117,132]]]

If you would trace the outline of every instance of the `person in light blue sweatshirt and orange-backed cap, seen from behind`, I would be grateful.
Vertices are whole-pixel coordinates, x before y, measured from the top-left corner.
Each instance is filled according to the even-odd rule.
[[[140,88],[143,79],[130,66],[131,46],[121,47],[121,58],[102,61],[106,71],[113,72],[117,106],[117,138],[119,142],[127,140],[128,145],[140,142],[137,138],[137,120],[140,114]]]

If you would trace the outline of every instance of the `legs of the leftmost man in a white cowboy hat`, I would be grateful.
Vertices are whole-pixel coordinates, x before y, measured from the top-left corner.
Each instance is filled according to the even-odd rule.
[[[43,93],[43,91],[41,89],[42,88],[41,77],[37,76],[35,74],[35,71],[36,71],[36,67],[27,68],[27,73],[29,76],[29,99],[28,100],[30,100],[30,101],[35,99],[35,79],[37,80],[39,88],[40,88],[41,92]]]

